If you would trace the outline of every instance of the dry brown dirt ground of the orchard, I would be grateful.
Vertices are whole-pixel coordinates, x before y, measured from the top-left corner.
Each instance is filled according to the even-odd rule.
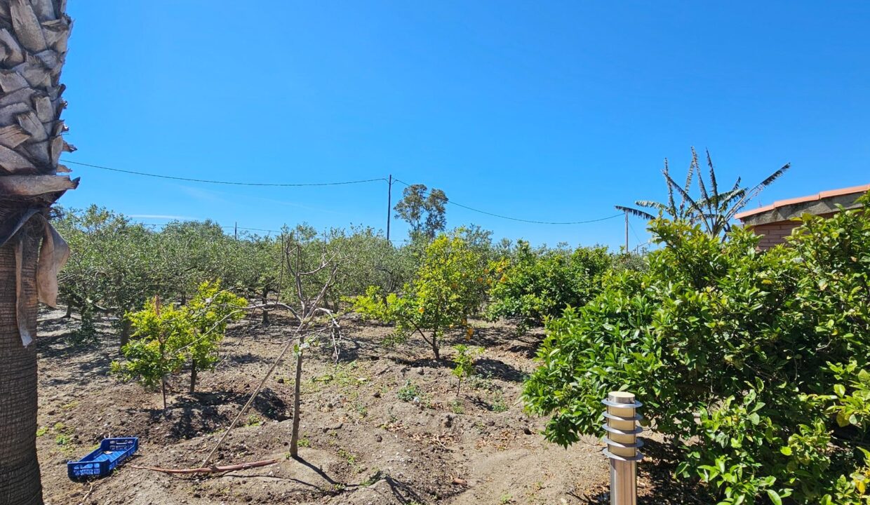
[[[386,349],[391,328],[351,315],[342,321],[338,364],[329,340],[306,351],[301,461],[288,454],[293,381],[285,360],[214,461],[278,463],[167,475],[131,466],[199,467],[291,335],[290,320],[272,315],[264,326],[251,316],[233,325],[218,368],[200,374],[193,395],[186,393],[189,378],[178,375],[164,412],[159,392],[110,375],[119,354],[108,323],[98,326],[96,342],[71,346],[78,322],[62,316],[43,314],[38,340],[37,448],[47,504],[609,502],[601,443],[587,438],[562,449],[545,442],[545,420],[519,403],[540,332],[519,337],[508,324],[476,322],[471,343],[485,354],[478,377],[457,396],[449,361],[433,360],[413,340]],[[455,339],[443,347],[448,357],[453,343],[465,341]],[[104,479],[71,482],[66,462],[107,436],[138,436],[137,455]],[[659,463],[654,457],[641,463],[640,502],[690,502],[661,498],[673,486]]]

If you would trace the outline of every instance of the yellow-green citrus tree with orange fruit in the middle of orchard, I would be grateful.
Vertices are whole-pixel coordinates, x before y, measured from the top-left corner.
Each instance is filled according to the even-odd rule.
[[[382,296],[370,288],[354,299],[353,309],[395,323],[402,338],[418,334],[438,359],[441,337],[448,329],[468,326],[468,316],[484,302],[485,286],[483,258],[458,234],[443,234],[426,247],[401,295]]]

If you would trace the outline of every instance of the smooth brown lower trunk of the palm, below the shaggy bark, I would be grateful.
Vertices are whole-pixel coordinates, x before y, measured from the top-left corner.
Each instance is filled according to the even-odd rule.
[[[20,236],[25,324],[35,337],[40,233],[25,225],[0,248],[0,503],[10,505],[43,502],[37,462],[37,344],[24,347],[18,333],[15,258]]]

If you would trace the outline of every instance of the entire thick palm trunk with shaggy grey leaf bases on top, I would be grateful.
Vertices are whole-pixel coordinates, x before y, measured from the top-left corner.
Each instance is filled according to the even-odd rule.
[[[53,305],[69,249],[50,205],[77,180],[60,155],[64,0],[0,0],[0,503],[43,502],[37,462],[37,300]],[[38,268],[37,268],[38,264]]]

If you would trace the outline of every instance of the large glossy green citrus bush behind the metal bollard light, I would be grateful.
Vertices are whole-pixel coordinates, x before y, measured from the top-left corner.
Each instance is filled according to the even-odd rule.
[[[524,389],[529,409],[552,414],[546,437],[599,435],[601,396],[632,390],[680,446],[679,475],[722,503],[860,503],[849,493],[863,493],[853,448],[870,428],[870,215],[804,216],[788,247],[765,253],[744,229],[651,230],[664,247],[646,271],[606,276],[599,296],[547,323]]]

